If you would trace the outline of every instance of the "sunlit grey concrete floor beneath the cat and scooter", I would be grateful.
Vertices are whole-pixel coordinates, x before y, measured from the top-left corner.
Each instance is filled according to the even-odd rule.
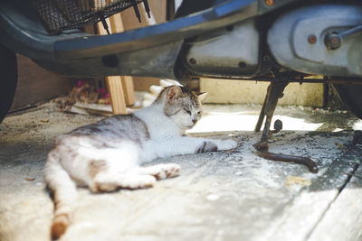
[[[96,195],[80,189],[74,223],[62,240],[362,240],[362,122],[343,112],[277,108],[285,130],[275,134],[271,151],[310,157],[319,166],[312,174],[254,153],[260,108],[206,106],[190,134],[236,138],[240,146],[154,162],[179,163],[179,177],[147,190]],[[52,102],[5,118],[1,241],[49,240],[46,154],[58,134],[100,118],[57,112]]]

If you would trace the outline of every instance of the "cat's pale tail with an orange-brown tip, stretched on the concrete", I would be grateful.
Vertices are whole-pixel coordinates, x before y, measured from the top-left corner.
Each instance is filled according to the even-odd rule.
[[[58,239],[71,224],[72,206],[77,199],[76,184],[62,168],[53,150],[45,164],[45,181],[53,192],[54,217],[52,218],[52,240]]]

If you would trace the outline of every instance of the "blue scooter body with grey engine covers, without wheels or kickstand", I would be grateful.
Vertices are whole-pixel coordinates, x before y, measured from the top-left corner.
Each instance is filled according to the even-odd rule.
[[[0,42],[63,75],[362,77],[362,6],[356,2],[281,0],[269,6],[224,1],[167,23],[108,36],[80,31],[54,36],[26,7],[16,6],[21,2],[0,5]]]

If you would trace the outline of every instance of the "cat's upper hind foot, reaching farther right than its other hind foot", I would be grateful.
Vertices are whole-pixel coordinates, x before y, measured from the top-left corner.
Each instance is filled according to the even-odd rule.
[[[148,167],[139,167],[138,173],[152,175],[157,180],[161,180],[178,176],[180,169],[180,165],[176,163],[165,163]]]

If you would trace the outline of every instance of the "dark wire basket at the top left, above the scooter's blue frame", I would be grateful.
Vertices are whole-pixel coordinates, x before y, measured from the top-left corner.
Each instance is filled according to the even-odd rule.
[[[33,0],[33,7],[45,29],[51,33],[81,28],[102,21],[131,6],[140,21],[138,4],[143,2],[149,15],[147,0]]]

